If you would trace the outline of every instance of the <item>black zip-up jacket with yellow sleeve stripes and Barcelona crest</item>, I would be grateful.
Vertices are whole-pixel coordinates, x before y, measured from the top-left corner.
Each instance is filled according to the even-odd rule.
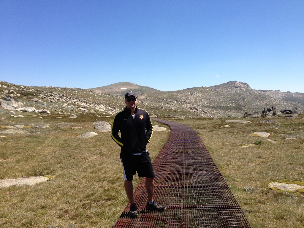
[[[130,109],[127,107],[116,114],[111,127],[112,139],[121,147],[124,153],[140,153],[146,151],[146,145],[150,142],[153,126],[148,113],[136,106],[133,119]],[[118,132],[121,135],[119,137]]]

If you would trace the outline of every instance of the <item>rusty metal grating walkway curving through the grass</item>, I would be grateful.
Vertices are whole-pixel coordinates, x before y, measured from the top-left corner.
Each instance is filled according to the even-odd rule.
[[[113,228],[251,227],[199,136],[190,127],[154,119],[171,127],[153,162],[154,198],[165,212],[146,211],[145,178],[134,192],[139,213],[130,219],[126,206]]]

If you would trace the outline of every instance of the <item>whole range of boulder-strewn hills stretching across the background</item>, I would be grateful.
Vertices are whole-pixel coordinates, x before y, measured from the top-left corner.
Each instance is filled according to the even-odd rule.
[[[170,92],[129,82],[81,89],[33,87],[0,81],[0,112],[60,113],[70,118],[85,113],[114,116],[124,109],[124,94],[130,90],[137,93],[138,107],[146,109],[151,116],[274,117],[299,114],[304,110],[304,93],[254,90],[238,81]],[[271,111],[267,111],[268,107]],[[13,116],[22,116],[18,114]]]

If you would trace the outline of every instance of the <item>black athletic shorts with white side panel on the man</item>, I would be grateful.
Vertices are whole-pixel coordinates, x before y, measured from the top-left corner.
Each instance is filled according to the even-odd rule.
[[[133,180],[133,175],[138,177],[155,177],[149,152],[146,151],[141,155],[120,153],[120,160],[123,164],[123,178],[127,181]]]

